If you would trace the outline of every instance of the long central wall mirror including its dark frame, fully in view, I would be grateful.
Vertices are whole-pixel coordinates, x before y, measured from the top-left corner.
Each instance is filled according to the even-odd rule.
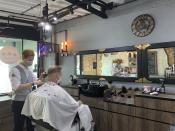
[[[82,51],[76,55],[76,75],[107,80],[134,81],[139,77],[141,53],[135,47]]]

